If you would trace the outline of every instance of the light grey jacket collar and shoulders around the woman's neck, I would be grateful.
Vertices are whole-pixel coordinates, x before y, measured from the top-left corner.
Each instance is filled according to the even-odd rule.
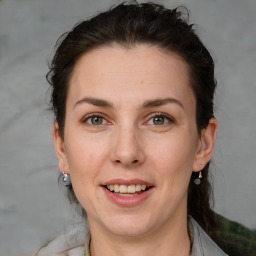
[[[198,223],[190,217],[194,231],[194,242],[191,256],[225,256],[225,254],[212,239],[203,231]],[[88,227],[79,226],[72,231],[62,235],[38,252],[38,256],[89,256]]]

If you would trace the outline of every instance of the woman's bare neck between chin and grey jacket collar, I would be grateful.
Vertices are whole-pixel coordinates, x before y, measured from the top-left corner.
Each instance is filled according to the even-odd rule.
[[[90,223],[90,222],[89,222]],[[123,237],[91,227],[91,256],[188,256],[190,239],[187,216],[182,221],[173,219],[158,230],[140,237]]]

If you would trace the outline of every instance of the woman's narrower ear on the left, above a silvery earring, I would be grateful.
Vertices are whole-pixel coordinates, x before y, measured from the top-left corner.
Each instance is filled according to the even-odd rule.
[[[57,122],[54,123],[52,136],[53,136],[53,141],[54,141],[54,145],[55,145],[56,155],[59,159],[59,169],[62,172],[69,174],[69,168],[68,168],[68,162],[67,162],[64,141],[60,136],[59,125]]]

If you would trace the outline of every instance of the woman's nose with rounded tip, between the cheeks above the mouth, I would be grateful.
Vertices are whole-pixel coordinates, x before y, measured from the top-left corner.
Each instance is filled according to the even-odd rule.
[[[145,161],[143,146],[135,128],[120,128],[114,136],[111,161],[115,165],[134,168]]]

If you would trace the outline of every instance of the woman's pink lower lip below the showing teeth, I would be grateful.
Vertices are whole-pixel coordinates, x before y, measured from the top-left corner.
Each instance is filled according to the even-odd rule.
[[[154,188],[150,188],[149,190],[142,192],[136,196],[123,197],[118,196],[112,192],[110,192],[105,187],[102,187],[107,197],[120,206],[136,206],[145,201],[153,192]]]

